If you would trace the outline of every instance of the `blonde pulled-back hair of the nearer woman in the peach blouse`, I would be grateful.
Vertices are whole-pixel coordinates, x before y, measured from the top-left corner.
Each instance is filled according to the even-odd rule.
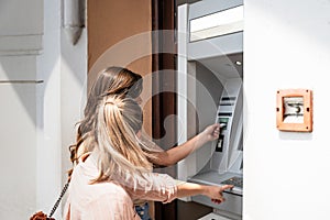
[[[99,152],[99,177],[96,182],[128,175],[143,177],[152,172],[152,157],[140,146],[136,133],[141,130],[143,113],[132,98],[105,97],[98,109],[96,143]]]

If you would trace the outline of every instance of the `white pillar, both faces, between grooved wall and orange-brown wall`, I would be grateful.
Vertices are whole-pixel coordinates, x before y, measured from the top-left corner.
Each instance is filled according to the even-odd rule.
[[[86,98],[87,34],[76,45],[63,29],[62,1],[44,2],[44,53],[38,57],[38,74],[44,79],[41,111],[42,131],[37,150],[37,207],[50,213],[67,180],[70,144]],[[47,178],[46,178],[47,177]],[[65,199],[63,199],[64,205]],[[61,219],[62,206],[55,212]]]

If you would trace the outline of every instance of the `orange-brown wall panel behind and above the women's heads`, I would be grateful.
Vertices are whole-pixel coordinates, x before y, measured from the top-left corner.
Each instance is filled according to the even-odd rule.
[[[151,0],[88,1],[88,85],[109,65],[124,66],[142,76],[152,73],[151,7]],[[144,129],[148,133],[151,88],[145,80]]]

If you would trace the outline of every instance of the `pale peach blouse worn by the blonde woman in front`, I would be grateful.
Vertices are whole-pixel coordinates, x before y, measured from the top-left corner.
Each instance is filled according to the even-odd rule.
[[[147,179],[90,184],[99,174],[97,163],[86,154],[75,167],[64,209],[65,220],[138,220],[133,200],[169,202],[177,197],[176,180],[165,174],[152,174]]]

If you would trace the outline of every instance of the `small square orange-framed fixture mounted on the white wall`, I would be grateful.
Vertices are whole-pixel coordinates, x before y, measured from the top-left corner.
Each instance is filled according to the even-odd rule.
[[[277,91],[276,127],[280,131],[312,131],[312,92],[309,89]]]

